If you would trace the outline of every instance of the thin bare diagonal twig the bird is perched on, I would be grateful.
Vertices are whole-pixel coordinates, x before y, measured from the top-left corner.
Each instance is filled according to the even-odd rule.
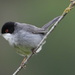
[[[47,36],[55,29],[55,27],[57,26],[57,24],[70,12],[70,10],[75,6],[75,1],[74,0],[70,0],[70,5],[64,10],[63,14],[59,17],[59,19],[53,24],[53,26],[50,28],[50,30],[46,33],[46,35],[44,36],[44,38],[42,39],[42,41],[39,43],[39,45],[37,46],[36,49],[34,49],[34,51],[37,51],[42,45],[43,42],[45,41],[45,39],[47,38]],[[32,53],[29,57],[27,57],[27,59],[24,61],[23,65],[20,67],[13,73],[13,75],[17,75],[18,72],[23,68],[24,65],[26,65],[27,61],[34,55],[34,53]]]

